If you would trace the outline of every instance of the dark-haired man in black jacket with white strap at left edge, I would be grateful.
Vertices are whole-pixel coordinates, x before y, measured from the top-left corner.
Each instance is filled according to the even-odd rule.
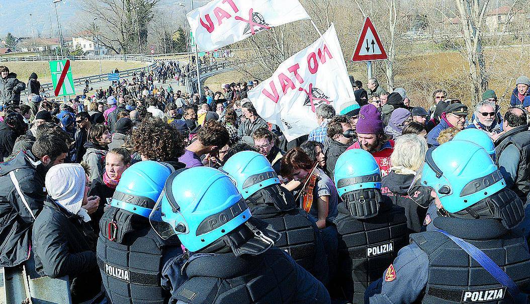
[[[48,169],[64,163],[68,146],[55,135],[43,135],[31,151],[20,151],[0,169],[0,267],[27,261],[30,231],[46,200]]]

